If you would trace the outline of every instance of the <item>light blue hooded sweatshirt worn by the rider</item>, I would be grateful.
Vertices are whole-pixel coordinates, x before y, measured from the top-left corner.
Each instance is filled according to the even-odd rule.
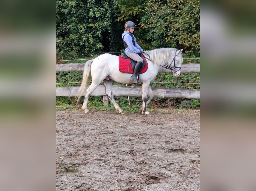
[[[122,34],[122,38],[123,38],[124,42],[128,45],[128,47],[124,50],[124,52],[125,52],[125,54],[130,53],[130,52],[140,53],[140,51],[143,51],[143,49],[140,48],[140,46],[138,45],[134,35],[133,35],[133,38],[134,38],[135,46],[133,45],[131,35],[133,35],[133,34],[129,33],[128,31],[124,31],[124,33]]]

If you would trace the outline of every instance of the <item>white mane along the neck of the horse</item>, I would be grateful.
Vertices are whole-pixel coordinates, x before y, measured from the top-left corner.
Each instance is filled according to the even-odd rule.
[[[158,64],[162,66],[169,66],[173,57],[175,56],[176,51],[176,48],[160,48],[151,51],[145,51],[145,53],[149,55],[149,59],[153,62],[154,65]],[[146,58],[148,58],[148,55],[146,54],[144,55]]]

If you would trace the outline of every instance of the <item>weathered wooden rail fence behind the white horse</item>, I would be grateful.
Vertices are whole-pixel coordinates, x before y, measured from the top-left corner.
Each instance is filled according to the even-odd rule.
[[[56,72],[62,71],[83,71],[85,64],[56,64]],[[159,72],[170,73],[170,70],[160,68]],[[181,73],[200,73],[200,64],[182,64]],[[87,87],[88,88],[88,87]],[[56,87],[56,96],[76,96],[79,87]],[[170,98],[195,98],[200,99],[200,90],[181,88],[152,88],[155,97]],[[85,95],[85,93],[83,94]],[[92,95],[104,96],[104,105],[108,105],[105,86],[100,85]],[[114,86],[114,96],[142,96],[141,86]]]

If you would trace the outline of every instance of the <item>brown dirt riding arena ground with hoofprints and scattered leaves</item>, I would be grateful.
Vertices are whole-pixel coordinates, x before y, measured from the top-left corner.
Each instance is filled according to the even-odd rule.
[[[56,111],[56,190],[200,190],[200,111]]]

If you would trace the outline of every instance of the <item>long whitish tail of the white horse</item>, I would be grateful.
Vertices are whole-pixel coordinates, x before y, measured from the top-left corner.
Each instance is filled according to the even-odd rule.
[[[87,86],[87,83],[88,83],[88,79],[89,79],[90,74],[91,74],[91,65],[93,63],[93,60],[89,60],[89,61],[87,61],[85,63],[83,80],[82,80],[81,86],[78,89],[78,92],[77,92],[77,95],[76,95],[77,104],[78,104],[80,98],[82,97],[82,95],[83,95],[83,93],[84,93],[84,91],[86,89],[86,86]]]

